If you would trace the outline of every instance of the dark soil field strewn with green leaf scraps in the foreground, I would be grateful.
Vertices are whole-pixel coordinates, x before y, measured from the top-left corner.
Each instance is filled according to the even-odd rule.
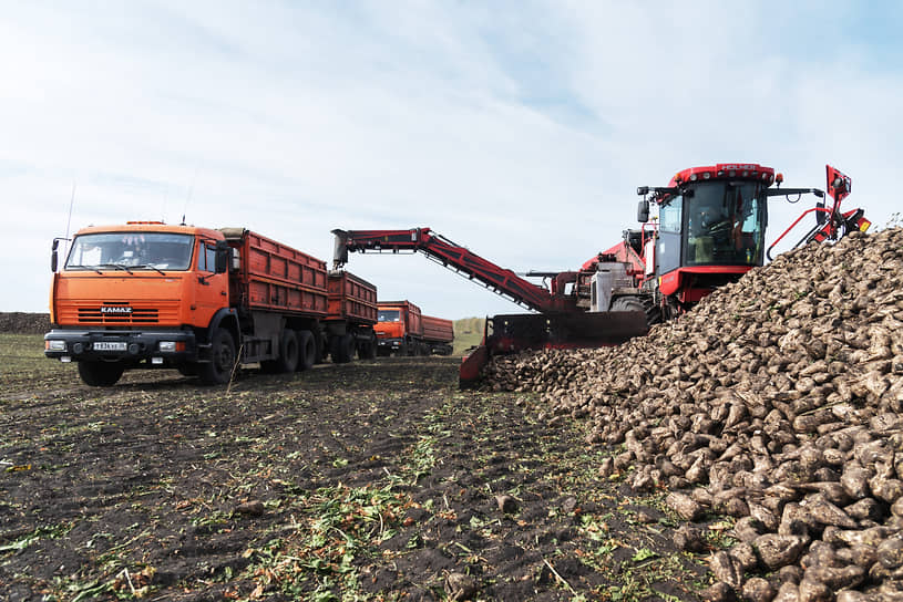
[[[90,388],[0,334],[0,599],[694,600],[705,554],[579,422],[455,357]],[[510,496],[500,508],[496,496]],[[503,500],[504,501],[504,500]],[[709,549],[729,543],[709,525]]]

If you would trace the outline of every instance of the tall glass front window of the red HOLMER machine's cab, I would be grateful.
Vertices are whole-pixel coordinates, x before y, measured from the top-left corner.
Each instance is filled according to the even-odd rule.
[[[687,266],[761,264],[765,204],[752,181],[700,184],[686,195]]]

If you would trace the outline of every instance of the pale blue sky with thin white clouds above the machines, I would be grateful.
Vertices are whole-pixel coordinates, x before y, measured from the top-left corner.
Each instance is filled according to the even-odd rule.
[[[896,2],[6,2],[0,205],[47,311],[49,249],[129,219],[245,226],[331,257],[334,228],[427,226],[566,270],[635,226],[636,187],[755,162],[903,210]],[[769,239],[802,209],[770,201]],[[516,307],[423,257],[352,256],[382,298]]]

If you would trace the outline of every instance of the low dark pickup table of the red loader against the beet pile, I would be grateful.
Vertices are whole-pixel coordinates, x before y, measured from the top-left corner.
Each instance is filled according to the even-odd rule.
[[[639,311],[494,315],[486,319],[484,344],[461,362],[459,385],[476,386],[492,355],[537,349],[614,346],[647,332],[646,314]]]

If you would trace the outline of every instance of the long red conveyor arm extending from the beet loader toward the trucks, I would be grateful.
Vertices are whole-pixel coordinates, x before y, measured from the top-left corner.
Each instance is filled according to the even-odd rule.
[[[421,251],[470,280],[476,280],[497,294],[525,308],[547,313],[573,311],[573,301],[553,294],[547,289],[524,280],[511,270],[486,261],[451,240],[435,235],[429,228],[410,230],[332,230],[336,236],[334,267],[348,262],[348,252]]]

